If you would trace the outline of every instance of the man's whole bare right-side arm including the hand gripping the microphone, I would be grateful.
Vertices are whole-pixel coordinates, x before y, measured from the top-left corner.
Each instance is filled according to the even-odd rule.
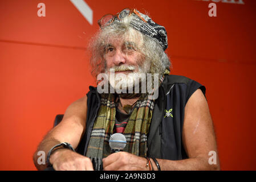
[[[185,106],[182,141],[189,159],[157,159],[161,170],[220,169],[213,122],[212,118],[210,117],[207,101],[200,89],[196,90],[196,92],[192,94]],[[208,154],[210,151],[216,152],[217,164],[208,163],[210,158]],[[152,159],[151,162],[153,168],[156,170],[156,164]],[[116,154],[111,154],[105,158],[103,161],[103,166],[105,170],[148,170],[148,168],[145,166],[146,163],[147,160],[144,158],[128,154],[127,152],[119,152]]]

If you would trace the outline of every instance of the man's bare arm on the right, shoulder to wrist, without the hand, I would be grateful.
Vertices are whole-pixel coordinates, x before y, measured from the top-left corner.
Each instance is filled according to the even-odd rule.
[[[192,94],[185,106],[182,141],[189,159],[158,159],[162,170],[220,170],[214,126],[200,89]],[[210,151],[216,152],[216,164],[209,164]]]

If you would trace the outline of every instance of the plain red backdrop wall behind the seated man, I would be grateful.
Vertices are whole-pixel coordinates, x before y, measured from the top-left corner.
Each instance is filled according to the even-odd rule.
[[[217,17],[211,1],[84,1],[92,25],[68,0],[0,0],[0,170],[36,169],[32,155],[55,115],[95,85],[87,43],[97,20],[125,7],[166,27],[172,74],[206,86],[221,168],[256,169],[256,1],[218,2]]]

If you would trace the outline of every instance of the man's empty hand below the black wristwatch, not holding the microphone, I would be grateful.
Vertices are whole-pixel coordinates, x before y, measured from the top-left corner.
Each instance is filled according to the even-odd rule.
[[[50,163],[56,171],[93,171],[89,158],[67,148],[56,150],[50,156]]]

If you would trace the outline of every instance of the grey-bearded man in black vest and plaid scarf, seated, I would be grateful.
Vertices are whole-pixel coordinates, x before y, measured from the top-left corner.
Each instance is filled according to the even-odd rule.
[[[220,169],[205,87],[169,75],[165,28],[135,9],[98,23],[91,44],[98,86],[90,86],[44,137],[36,168],[47,167],[37,163],[38,151],[45,151],[55,170]],[[127,144],[111,154],[114,133],[123,133]]]

